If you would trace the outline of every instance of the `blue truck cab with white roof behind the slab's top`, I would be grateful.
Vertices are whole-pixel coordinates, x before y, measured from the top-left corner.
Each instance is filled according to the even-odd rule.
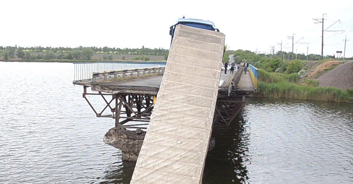
[[[177,23],[170,26],[170,28],[169,28],[170,29],[169,35],[172,36],[172,41],[173,41],[175,26],[177,26],[178,24],[219,32],[219,30],[215,28],[215,23],[212,21],[201,20],[201,19],[191,19],[191,18],[183,17],[183,18],[179,18],[177,20]],[[170,41],[170,44],[172,44],[172,41]]]

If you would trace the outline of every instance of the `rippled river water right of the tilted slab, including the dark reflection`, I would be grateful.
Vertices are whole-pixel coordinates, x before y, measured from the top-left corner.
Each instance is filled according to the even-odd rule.
[[[251,98],[214,129],[204,183],[353,182],[352,104]]]

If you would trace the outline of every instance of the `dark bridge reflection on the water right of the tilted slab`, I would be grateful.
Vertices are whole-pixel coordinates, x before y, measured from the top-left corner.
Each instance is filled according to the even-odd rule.
[[[216,147],[207,156],[203,183],[249,183],[249,128],[243,117],[235,118],[231,127],[215,126]]]

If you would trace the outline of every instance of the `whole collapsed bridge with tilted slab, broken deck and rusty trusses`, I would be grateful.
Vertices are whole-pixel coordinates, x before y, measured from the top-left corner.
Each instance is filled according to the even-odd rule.
[[[96,116],[114,118],[115,127],[149,124],[131,183],[201,183],[214,119],[229,125],[257,84],[252,66],[247,74],[221,74],[224,38],[177,25],[165,67],[93,72],[73,82],[83,86]],[[88,95],[101,96],[104,109],[97,111]],[[125,125],[131,121],[137,124]]]

